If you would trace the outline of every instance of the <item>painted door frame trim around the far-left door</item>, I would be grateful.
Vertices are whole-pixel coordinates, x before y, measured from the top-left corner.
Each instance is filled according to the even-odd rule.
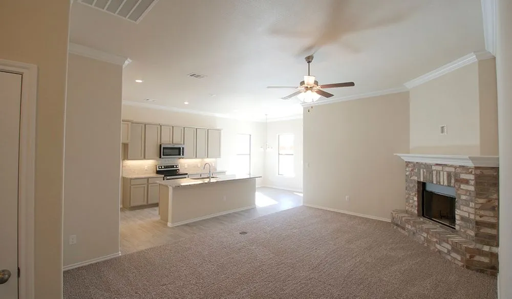
[[[0,59],[0,70],[22,75],[18,166],[18,298],[33,299],[37,66]]]

